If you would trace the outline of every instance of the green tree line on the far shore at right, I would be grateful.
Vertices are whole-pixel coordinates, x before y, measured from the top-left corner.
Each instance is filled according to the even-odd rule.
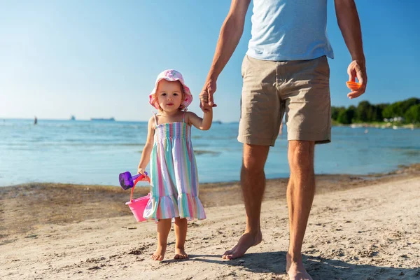
[[[400,123],[420,123],[420,99],[409,98],[393,104],[370,104],[360,102],[358,106],[331,108],[332,120],[343,125],[351,123],[384,122],[384,119],[398,118]],[[389,120],[393,121],[393,120]]]

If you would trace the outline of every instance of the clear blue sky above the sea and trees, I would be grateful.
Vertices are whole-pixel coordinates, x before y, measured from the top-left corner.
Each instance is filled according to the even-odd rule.
[[[356,1],[363,30],[367,93],[349,100],[351,61],[328,0],[333,106],[419,97],[420,1]],[[0,0],[0,118],[147,120],[148,93],[164,69],[183,73],[195,94],[207,76],[230,1]],[[244,35],[218,80],[214,118],[239,120]]]

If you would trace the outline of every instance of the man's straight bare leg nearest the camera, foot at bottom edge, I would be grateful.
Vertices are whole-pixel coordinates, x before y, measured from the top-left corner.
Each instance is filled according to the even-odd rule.
[[[289,141],[287,188],[290,243],[286,272],[290,279],[311,279],[303,267],[302,242],[315,194],[314,141]]]

